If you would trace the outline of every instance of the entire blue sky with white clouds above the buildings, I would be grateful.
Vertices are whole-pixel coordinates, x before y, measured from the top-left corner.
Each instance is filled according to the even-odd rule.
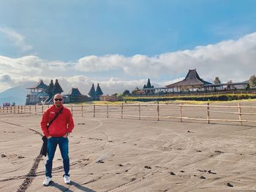
[[[105,93],[256,74],[255,0],[0,0],[0,92],[59,79]],[[32,83],[33,84],[33,83]],[[157,85],[157,86],[156,86]]]

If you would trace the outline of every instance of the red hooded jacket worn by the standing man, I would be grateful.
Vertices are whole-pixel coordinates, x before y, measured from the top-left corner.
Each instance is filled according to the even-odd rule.
[[[54,118],[54,116],[59,112],[59,110],[63,108],[61,114],[59,114],[58,118],[50,124],[50,127],[47,128],[50,120]],[[66,133],[71,133],[74,128],[74,121],[72,118],[72,114],[69,109],[61,105],[60,108],[57,108],[54,104],[48,108],[44,115],[42,115],[41,120],[41,129],[43,134],[46,137],[63,137]]]

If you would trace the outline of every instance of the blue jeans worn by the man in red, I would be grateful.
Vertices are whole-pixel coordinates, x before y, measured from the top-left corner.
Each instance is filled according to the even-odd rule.
[[[47,160],[45,164],[45,176],[52,177],[53,157],[56,147],[59,145],[63,160],[64,175],[69,176],[69,139],[65,137],[51,137],[47,144]]]

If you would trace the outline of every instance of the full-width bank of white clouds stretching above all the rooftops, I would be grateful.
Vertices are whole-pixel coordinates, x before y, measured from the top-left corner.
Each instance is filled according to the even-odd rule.
[[[73,87],[87,94],[91,84],[97,85],[97,82],[105,93],[121,93],[125,89],[132,91],[143,87],[148,78],[153,85],[161,87],[182,80],[188,69],[197,69],[200,77],[210,82],[216,76],[222,82],[240,82],[256,73],[255,61],[256,33],[153,57],[90,55],[75,62],[64,62],[46,61],[34,55],[21,58],[0,56],[0,80],[4,83],[0,89],[39,79],[48,84],[51,79],[58,78],[65,93]]]

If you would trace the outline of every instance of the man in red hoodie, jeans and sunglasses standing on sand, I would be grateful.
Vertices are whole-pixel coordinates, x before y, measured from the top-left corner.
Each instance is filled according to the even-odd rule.
[[[53,98],[54,104],[48,108],[42,115],[41,128],[43,134],[48,138],[47,146],[47,160],[45,164],[45,180],[42,185],[49,185],[52,180],[52,167],[53,167],[53,157],[56,151],[57,145],[61,150],[61,157],[63,160],[64,167],[64,183],[69,184],[69,140],[68,135],[72,132],[74,128],[74,121],[72,114],[66,107],[63,106],[63,96],[61,94],[56,94]],[[62,111],[61,111],[62,110]],[[60,113],[59,113],[60,112]],[[56,114],[59,116],[53,120]],[[50,120],[53,123],[47,128]]]

